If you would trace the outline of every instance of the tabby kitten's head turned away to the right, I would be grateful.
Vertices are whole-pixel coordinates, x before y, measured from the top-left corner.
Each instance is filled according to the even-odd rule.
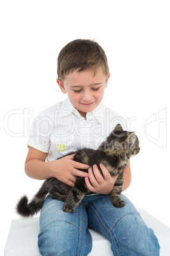
[[[107,137],[106,150],[114,150],[116,153],[126,153],[128,159],[140,152],[139,140],[134,132],[124,131],[117,124],[114,131]]]

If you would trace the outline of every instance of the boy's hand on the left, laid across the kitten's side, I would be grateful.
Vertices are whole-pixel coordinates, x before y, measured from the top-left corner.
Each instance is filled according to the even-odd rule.
[[[69,185],[70,187],[74,186],[77,176],[84,178],[88,177],[88,173],[84,173],[84,171],[80,171],[79,169],[89,168],[87,164],[75,162],[73,159],[74,154],[51,161],[53,177]]]

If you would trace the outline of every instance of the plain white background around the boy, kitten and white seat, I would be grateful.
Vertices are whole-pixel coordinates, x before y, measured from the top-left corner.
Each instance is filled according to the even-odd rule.
[[[103,104],[126,117],[140,139],[124,194],[170,226],[169,13],[164,0],[1,1],[1,255],[18,218],[16,201],[42,183],[24,172],[30,125],[65,99],[56,62],[77,38],[95,39],[105,50],[111,76]]]

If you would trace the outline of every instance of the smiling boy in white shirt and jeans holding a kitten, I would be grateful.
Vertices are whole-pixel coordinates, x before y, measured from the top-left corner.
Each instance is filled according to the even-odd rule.
[[[73,155],[57,158],[84,146],[97,148],[124,122],[101,104],[110,73],[107,57],[98,43],[77,39],[58,55],[58,83],[68,98],[44,110],[36,118],[30,139],[25,172],[31,178],[55,177],[73,186],[77,176],[85,178],[94,194],[84,197],[74,214],[62,210],[63,202],[46,197],[40,216],[39,252],[42,255],[88,255],[92,239],[88,227],[101,232],[111,243],[114,255],[159,255],[159,243],[152,229],[141,220],[133,204],[115,208],[110,192],[117,177],[111,177],[103,164],[89,166],[75,162]],[[47,160],[47,162],[46,162]],[[122,191],[131,183],[130,164],[124,170]]]

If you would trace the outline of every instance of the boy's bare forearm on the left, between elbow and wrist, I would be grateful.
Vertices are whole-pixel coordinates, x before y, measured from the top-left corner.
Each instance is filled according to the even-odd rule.
[[[44,162],[39,159],[31,159],[25,164],[25,173],[30,178],[36,180],[46,180],[48,178],[51,178],[51,162]]]

